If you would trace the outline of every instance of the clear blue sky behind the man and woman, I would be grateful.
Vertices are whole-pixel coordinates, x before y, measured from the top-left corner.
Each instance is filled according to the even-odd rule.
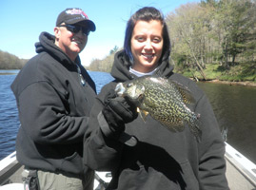
[[[143,7],[164,15],[200,0],[0,0],[0,50],[19,58],[36,55],[34,44],[42,31],[53,34],[58,14],[67,8],[84,10],[96,25],[87,47],[79,54],[82,65],[104,59],[115,46],[123,47],[129,17]]]

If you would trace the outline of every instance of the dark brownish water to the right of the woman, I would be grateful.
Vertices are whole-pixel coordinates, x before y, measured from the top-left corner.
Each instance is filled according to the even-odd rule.
[[[198,83],[212,104],[227,142],[256,162],[256,88],[241,85]]]

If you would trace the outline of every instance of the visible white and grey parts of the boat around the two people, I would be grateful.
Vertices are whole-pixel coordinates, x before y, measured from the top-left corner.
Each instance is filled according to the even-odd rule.
[[[256,190],[256,165],[226,142],[226,179],[230,190]],[[23,166],[16,152],[0,161],[0,190],[23,190]],[[95,173],[94,190],[105,190],[111,180],[110,172]]]

